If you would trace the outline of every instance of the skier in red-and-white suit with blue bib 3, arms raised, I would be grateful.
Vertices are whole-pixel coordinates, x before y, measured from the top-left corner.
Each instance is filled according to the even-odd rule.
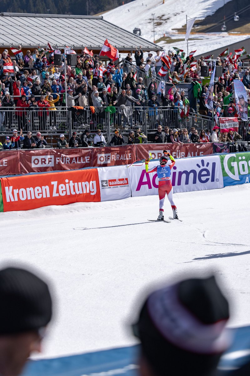
[[[170,179],[171,168],[175,164],[175,159],[166,150],[163,150],[163,154],[164,155],[162,156],[162,158],[160,158],[160,165],[154,166],[153,168],[150,168],[150,169],[148,168],[148,162],[150,161],[150,159],[147,158],[145,160],[146,172],[147,173],[156,172],[158,179],[159,179],[158,192],[159,192],[159,199],[160,199],[160,203],[159,203],[160,212],[159,212],[159,216],[157,218],[157,220],[159,220],[159,221],[164,220],[163,205],[164,205],[164,200],[165,200],[166,194],[168,195],[168,200],[169,200],[169,202],[171,203],[171,206],[172,206],[173,218],[178,219],[177,208],[175,206],[174,199],[173,199],[173,187],[172,187],[172,183],[171,183],[171,179]]]

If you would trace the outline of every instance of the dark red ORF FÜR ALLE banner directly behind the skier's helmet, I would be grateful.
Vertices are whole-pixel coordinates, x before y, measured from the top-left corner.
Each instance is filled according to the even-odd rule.
[[[178,144],[140,144],[137,146],[137,159],[145,159],[152,154],[153,159],[159,159],[162,156],[163,150],[168,152],[174,158],[185,158],[208,155],[213,153],[213,144],[184,144],[180,146]]]

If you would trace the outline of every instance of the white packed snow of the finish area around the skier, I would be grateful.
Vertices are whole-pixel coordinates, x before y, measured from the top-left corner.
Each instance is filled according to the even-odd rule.
[[[28,265],[51,282],[42,357],[135,344],[130,324],[145,287],[212,271],[229,325],[250,324],[249,196],[249,184],[174,194],[183,222],[171,223],[148,221],[157,196],[0,213],[0,267]]]

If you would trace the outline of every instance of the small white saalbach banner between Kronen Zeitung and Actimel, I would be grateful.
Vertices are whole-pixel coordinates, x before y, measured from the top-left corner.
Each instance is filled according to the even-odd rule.
[[[100,167],[99,174],[101,201],[121,200],[131,197],[129,173],[126,165]]]

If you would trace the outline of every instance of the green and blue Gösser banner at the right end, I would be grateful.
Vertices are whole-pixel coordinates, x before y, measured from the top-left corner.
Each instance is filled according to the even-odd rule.
[[[224,186],[249,183],[250,152],[220,155]]]

